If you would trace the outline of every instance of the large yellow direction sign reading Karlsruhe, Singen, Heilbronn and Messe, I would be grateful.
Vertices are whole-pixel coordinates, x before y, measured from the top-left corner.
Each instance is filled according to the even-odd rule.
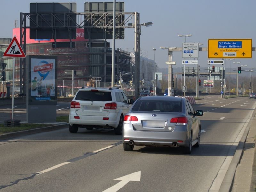
[[[208,39],[208,58],[252,58],[252,39]]]

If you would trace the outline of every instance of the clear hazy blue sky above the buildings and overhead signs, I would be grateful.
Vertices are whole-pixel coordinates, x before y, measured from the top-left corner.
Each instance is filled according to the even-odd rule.
[[[29,12],[30,2],[76,2],[77,12],[84,12],[85,2],[103,1],[1,0],[0,38],[12,38],[14,20],[20,20],[20,12]],[[208,46],[208,39],[252,39],[252,47],[256,47],[255,0],[123,0],[121,2],[125,2],[125,12],[140,13],[140,23],[153,22],[151,27],[141,27],[140,48],[150,59],[154,58],[153,48],[156,48],[155,61],[160,68],[166,68],[165,62],[168,61],[167,50],[160,49],[160,46],[182,47],[184,37],[178,37],[178,34],[192,34],[191,37],[186,38],[186,42],[203,43],[202,47]],[[112,46],[112,40],[108,41]],[[125,29],[125,39],[116,40],[116,48],[130,50],[134,48],[134,29]],[[246,68],[256,67],[255,55],[256,52],[252,52],[252,59],[233,61],[241,62],[240,65],[248,65]],[[176,61],[177,67],[182,67],[182,60],[181,52],[174,52],[173,61]],[[207,52],[199,52],[199,65],[207,67],[207,60],[212,60],[208,58]],[[232,62],[231,64],[235,66],[236,64]],[[226,62],[226,67],[229,67],[229,61]]]

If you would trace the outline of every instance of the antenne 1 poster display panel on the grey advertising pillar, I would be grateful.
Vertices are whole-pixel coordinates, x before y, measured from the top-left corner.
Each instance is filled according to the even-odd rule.
[[[56,105],[57,57],[29,56],[29,102],[32,105]]]

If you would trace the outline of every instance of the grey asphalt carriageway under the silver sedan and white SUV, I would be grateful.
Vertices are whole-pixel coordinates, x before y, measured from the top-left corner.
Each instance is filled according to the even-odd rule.
[[[0,142],[0,190],[218,191],[256,100],[206,96],[196,103],[204,111],[201,142],[190,155],[139,146],[125,152],[113,130],[63,128]]]

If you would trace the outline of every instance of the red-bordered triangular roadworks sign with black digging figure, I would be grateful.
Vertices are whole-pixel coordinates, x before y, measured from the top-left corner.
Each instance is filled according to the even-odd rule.
[[[4,57],[26,57],[16,37],[13,37],[12,42],[7,47],[3,56]]]

